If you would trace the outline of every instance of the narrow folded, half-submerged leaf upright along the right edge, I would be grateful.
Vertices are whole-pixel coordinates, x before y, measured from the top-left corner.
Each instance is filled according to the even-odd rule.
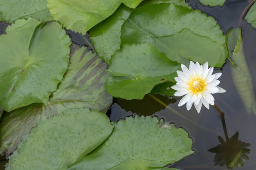
[[[240,28],[232,29],[227,33],[227,47],[231,65],[231,75],[236,90],[240,95],[247,113],[256,114],[256,99],[252,85],[252,77],[245,60],[243,39]]]

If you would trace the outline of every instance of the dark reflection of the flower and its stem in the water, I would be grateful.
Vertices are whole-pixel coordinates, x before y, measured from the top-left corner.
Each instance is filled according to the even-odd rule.
[[[238,140],[238,132],[229,138],[225,119],[222,117],[221,120],[225,139],[218,136],[220,144],[208,150],[209,152],[216,153],[213,160],[215,162],[214,166],[226,165],[229,170],[232,170],[234,167],[244,166],[244,161],[249,159],[247,154],[250,153],[250,149],[247,147],[250,144]]]

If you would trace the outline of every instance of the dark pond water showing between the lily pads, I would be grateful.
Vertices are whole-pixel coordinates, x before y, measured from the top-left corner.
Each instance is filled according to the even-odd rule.
[[[245,20],[240,20],[241,15],[245,14],[243,11],[248,7],[250,1],[227,0],[223,7],[204,7],[198,3],[198,0],[187,0],[187,2],[193,9],[199,9],[203,13],[213,16],[224,33],[238,26],[242,28],[245,58],[256,94],[256,30]],[[6,24],[0,22],[0,34],[4,33],[5,27]],[[87,45],[92,49],[88,35],[82,37],[71,31],[67,31],[67,33],[71,34],[72,41],[80,45]],[[200,114],[198,114],[194,107],[189,111],[186,110],[186,106],[178,107],[177,104],[180,98],[167,98],[161,95],[146,95],[142,100],[131,101],[115,98],[107,115],[111,121],[125,119],[125,117],[131,115],[152,115],[167,122],[173,122],[177,127],[182,127],[189,132],[189,137],[193,139],[192,148],[196,153],[169,166],[171,168],[181,170],[227,170],[225,163],[230,163],[233,159],[239,160],[242,157],[244,166],[238,169],[252,170],[256,167],[256,115],[247,113],[231,77],[230,67],[231,65],[227,62],[223,68],[214,70],[215,73],[222,73],[219,78],[220,86],[227,91],[226,93],[213,95],[216,105],[225,112],[225,119],[218,116],[217,111],[212,106],[209,110],[202,107]],[[222,142],[223,144],[219,150],[221,153],[217,155],[214,161],[216,153],[208,150],[220,144],[219,136],[226,140],[225,135],[229,138],[234,135],[233,139],[238,137],[238,141],[233,140],[233,143],[229,141],[227,145]],[[243,142],[250,144],[250,146]],[[244,148],[241,151],[239,147]],[[248,149],[250,153],[247,153]],[[240,154],[237,154],[236,150],[240,151]],[[243,152],[246,153],[249,159]],[[6,161],[0,158],[0,170],[4,170],[3,165],[5,163]],[[219,164],[224,166],[219,166]]]

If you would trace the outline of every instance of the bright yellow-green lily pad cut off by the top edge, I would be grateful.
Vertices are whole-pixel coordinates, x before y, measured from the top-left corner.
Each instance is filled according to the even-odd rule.
[[[119,7],[119,0],[47,0],[54,20],[66,29],[85,34]]]

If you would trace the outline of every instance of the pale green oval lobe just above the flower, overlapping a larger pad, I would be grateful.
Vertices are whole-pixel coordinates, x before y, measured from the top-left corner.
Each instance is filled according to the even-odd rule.
[[[189,66],[189,61],[208,62],[210,66],[215,66],[220,60],[216,56],[221,56],[218,42],[196,35],[189,29],[183,29],[173,35],[154,38],[154,44],[171,60],[187,66]]]

